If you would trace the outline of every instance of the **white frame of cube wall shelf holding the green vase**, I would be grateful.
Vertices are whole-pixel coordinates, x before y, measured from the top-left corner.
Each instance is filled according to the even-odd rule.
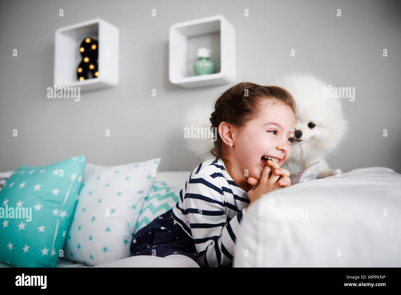
[[[209,75],[188,75],[188,39],[220,32],[220,72]],[[207,47],[207,46],[206,46]],[[222,15],[210,16],[170,26],[168,45],[168,77],[172,84],[185,88],[204,87],[231,83],[236,79],[236,32],[234,26]],[[196,51],[194,52],[196,54]],[[212,51],[213,55],[213,51]],[[218,67],[216,67],[218,68]]]

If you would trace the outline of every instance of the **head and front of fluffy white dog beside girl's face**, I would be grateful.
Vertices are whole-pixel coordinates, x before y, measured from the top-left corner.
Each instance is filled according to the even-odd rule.
[[[328,84],[310,74],[286,75],[275,80],[274,85],[287,89],[297,104],[296,141],[283,167],[295,173],[320,161],[317,178],[335,175],[337,170],[328,167],[324,156],[338,146],[348,129],[340,99],[323,98],[322,89]]]

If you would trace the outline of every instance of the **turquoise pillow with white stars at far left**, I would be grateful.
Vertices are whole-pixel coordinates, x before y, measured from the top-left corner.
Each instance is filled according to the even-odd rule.
[[[0,190],[0,261],[14,267],[56,266],[84,171],[84,155],[14,171]]]

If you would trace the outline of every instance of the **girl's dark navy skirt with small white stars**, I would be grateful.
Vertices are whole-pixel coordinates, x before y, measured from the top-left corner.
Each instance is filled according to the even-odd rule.
[[[198,253],[196,253],[194,240],[174,221],[170,209],[138,230],[131,240],[131,256],[154,253],[155,256],[166,257],[180,254],[193,259],[200,267],[205,267],[196,258]]]

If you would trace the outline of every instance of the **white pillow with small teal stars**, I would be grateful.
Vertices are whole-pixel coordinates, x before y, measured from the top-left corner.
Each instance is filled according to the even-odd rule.
[[[160,158],[118,166],[86,164],[64,257],[100,265],[131,256],[139,212]]]

